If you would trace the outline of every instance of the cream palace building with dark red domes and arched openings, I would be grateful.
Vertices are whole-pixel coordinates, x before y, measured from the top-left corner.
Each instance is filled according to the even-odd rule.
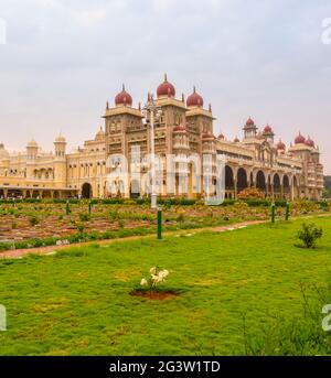
[[[188,158],[183,175],[186,182],[180,181],[181,172],[177,172],[173,186],[169,186],[166,169],[157,177],[159,195],[194,197],[199,183],[192,175],[189,155],[210,154],[215,164],[216,155],[222,154],[225,156],[226,198],[235,198],[250,186],[274,198],[321,198],[323,166],[319,149],[309,137],[305,138],[299,132],[293,144],[287,148],[281,140],[275,141],[275,132],[269,125],[258,129],[252,118],[243,126],[241,139],[227,140],[222,133],[215,137],[211,105],[204,106],[195,88],[186,99],[184,95],[178,98],[167,76],[157,88],[157,98],[148,95],[147,108],[150,104],[158,109],[154,152],[161,164],[167,166],[168,155]],[[44,152],[34,140],[26,144],[25,151],[14,153],[9,153],[1,143],[0,196],[129,197],[131,192],[135,195],[148,193],[145,184],[132,180],[126,182],[120,175],[111,175],[120,164],[116,161],[118,158],[114,158],[110,164],[106,163],[109,156],[124,155],[130,172],[135,151],[139,150],[142,160],[137,165],[135,177],[148,170],[146,156],[151,152],[151,128],[146,121],[145,110],[140,104],[134,107],[131,96],[122,87],[115,97],[114,106],[107,102],[103,118],[105,127],[97,131],[95,138],[71,152],[66,150],[63,136],[54,140],[53,152]],[[180,162],[175,162],[175,170],[179,165]],[[113,177],[110,183],[109,174]],[[132,191],[132,186],[137,190]]]

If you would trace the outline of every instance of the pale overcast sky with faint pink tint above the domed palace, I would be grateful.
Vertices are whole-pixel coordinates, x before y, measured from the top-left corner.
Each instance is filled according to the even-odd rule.
[[[331,174],[330,0],[0,0],[0,140],[22,150],[92,139],[121,83],[134,105],[163,74],[212,104],[215,134],[248,116],[289,144],[316,140]],[[0,36],[1,37],[1,36]]]

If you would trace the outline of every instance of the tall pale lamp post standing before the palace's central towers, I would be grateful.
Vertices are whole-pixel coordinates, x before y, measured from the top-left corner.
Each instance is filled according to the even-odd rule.
[[[148,102],[145,105],[142,115],[145,117],[146,123],[150,125],[150,154],[151,154],[151,208],[157,208],[157,177],[156,177],[156,141],[154,141],[154,121],[159,120],[162,110],[160,107],[156,106],[153,96],[148,96]]]

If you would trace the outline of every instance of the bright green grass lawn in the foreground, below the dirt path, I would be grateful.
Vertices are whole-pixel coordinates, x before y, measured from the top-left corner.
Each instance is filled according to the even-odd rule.
[[[296,220],[0,260],[0,354],[330,354],[331,218],[313,222],[314,250],[295,247]],[[180,295],[129,294],[154,264]]]

